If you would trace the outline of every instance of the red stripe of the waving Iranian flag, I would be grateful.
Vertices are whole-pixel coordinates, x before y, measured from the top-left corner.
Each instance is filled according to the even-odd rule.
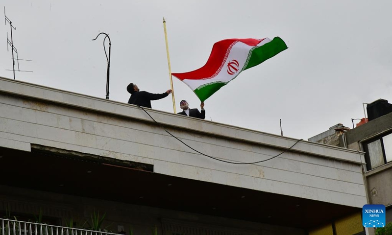
[[[202,78],[211,77],[215,74],[216,71],[218,71],[221,68],[224,57],[226,56],[226,51],[232,43],[239,41],[245,43],[248,46],[255,47],[263,40],[264,38],[261,40],[253,39],[253,38],[224,39],[214,44],[214,46],[212,47],[210,57],[208,58],[207,63],[203,67],[190,72],[172,73],[172,75],[177,77],[181,81],[184,79],[198,80]]]

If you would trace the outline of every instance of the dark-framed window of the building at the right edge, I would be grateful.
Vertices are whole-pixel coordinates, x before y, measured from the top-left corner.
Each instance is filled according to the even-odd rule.
[[[363,143],[368,170],[392,162],[392,133]]]

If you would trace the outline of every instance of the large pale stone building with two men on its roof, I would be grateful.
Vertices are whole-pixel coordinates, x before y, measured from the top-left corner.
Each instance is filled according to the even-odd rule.
[[[146,111],[0,78],[0,216],[50,224],[0,234],[364,234],[363,152]]]

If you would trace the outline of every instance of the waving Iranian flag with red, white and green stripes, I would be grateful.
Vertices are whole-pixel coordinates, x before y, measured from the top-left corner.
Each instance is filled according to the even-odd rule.
[[[224,39],[214,44],[207,63],[198,70],[172,73],[187,84],[203,102],[242,71],[287,49],[279,37],[264,39]]]

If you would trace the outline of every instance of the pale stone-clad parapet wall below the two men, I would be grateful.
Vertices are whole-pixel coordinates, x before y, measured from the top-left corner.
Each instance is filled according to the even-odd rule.
[[[224,161],[266,160],[297,141],[147,112],[182,141]],[[363,153],[300,141],[264,163],[222,163],[175,140],[136,106],[0,78],[0,146],[29,144],[153,164],[157,173],[182,178],[353,207],[366,204]]]

